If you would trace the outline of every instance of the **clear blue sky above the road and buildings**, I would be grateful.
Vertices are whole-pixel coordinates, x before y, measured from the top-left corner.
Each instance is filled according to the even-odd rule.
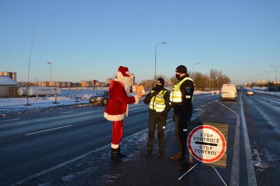
[[[27,81],[98,79],[120,65],[136,82],[155,73],[221,70],[232,83],[275,81],[280,65],[280,1],[0,1],[0,71]],[[280,80],[280,67],[277,68]],[[254,80],[258,80],[259,76]]]

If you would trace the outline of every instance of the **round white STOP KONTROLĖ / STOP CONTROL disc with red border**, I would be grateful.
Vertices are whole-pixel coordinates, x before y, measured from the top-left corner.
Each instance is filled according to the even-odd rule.
[[[209,125],[198,126],[192,130],[188,137],[190,153],[201,162],[211,163],[219,160],[226,149],[223,134],[215,127]]]

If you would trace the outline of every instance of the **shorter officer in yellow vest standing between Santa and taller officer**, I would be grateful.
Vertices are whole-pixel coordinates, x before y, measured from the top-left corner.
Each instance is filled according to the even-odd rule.
[[[153,153],[153,146],[155,142],[155,127],[158,124],[158,157],[162,157],[164,150],[164,128],[166,125],[167,112],[170,110],[169,106],[169,91],[164,88],[164,79],[158,78],[155,87],[144,99],[145,104],[149,106],[149,132],[146,156]]]

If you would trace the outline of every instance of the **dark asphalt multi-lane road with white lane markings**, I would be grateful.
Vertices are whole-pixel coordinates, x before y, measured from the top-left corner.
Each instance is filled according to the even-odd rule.
[[[246,96],[242,89],[236,102],[206,94],[195,96],[193,104],[193,121],[228,124],[226,168],[216,168],[227,185],[279,182],[277,97]],[[103,118],[104,108],[57,108],[0,118],[0,185],[223,185],[205,165],[178,181],[186,170],[177,169],[182,162],[168,159],[177,151],[172,112],[164,157],[156,156],[157,141],[153,156],[144,156],[148,106],[143,102],[129,105],[124,121],[122,151],[128,158],[112,163],[111,122]]]

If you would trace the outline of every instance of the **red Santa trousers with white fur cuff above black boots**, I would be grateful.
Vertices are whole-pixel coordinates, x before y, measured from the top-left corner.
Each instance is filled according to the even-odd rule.
[[[113,149],[119,148],[119,143],[122,139],[122,124],[123,120],[121,121],[112,121],[113,127],[112,127],[112,141],[111,141],[111,147]]]

